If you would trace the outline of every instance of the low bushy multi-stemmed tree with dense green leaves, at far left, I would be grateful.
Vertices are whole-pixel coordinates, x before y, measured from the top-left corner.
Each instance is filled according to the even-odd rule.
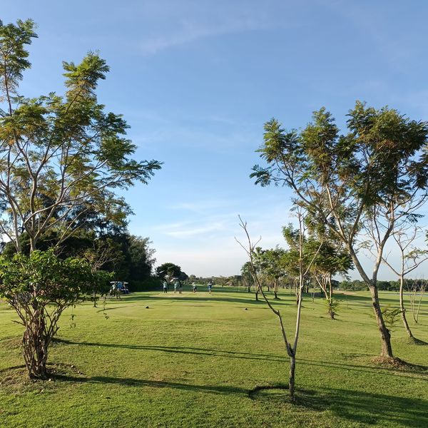
[[[53,250],[27,256],[0,256],[0,297],[16,310],[24,326],[24,361],[30,377],[47,376],[46,362],[63,310],[109,279],[78,258],[61,260]]]

